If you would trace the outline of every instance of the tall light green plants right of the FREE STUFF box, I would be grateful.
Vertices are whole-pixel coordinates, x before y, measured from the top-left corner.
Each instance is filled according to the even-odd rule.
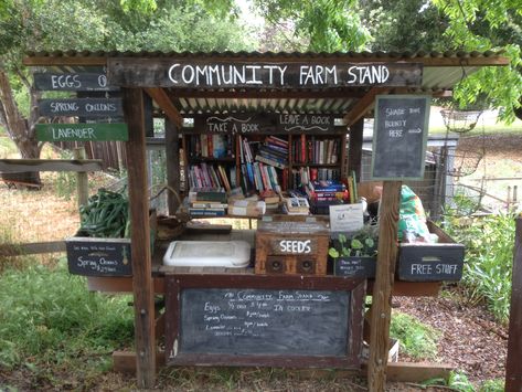
[[[445,229],[466,246],[462,286],[470,300],[484,300],[493,316],[507,322],[511,299],[514,246],[514,215],[499,214],[475,219],[460,225],[446,216]]]

